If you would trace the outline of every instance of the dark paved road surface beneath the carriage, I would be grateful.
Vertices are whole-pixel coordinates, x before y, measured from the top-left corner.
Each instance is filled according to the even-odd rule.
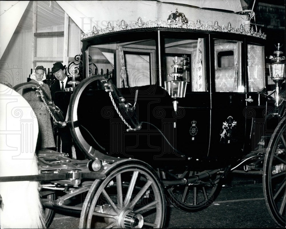
[[[79,218],[56,214],[50,228],[78,228]],[[275,228],[267,210],[260,176],[229,177],[217,200],[195,213],[170,207],[166,228]]]

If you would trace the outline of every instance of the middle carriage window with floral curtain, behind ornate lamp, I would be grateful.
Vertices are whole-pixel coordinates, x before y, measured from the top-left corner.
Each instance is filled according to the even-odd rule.
[[[187,91],[207,91],[205,40],[164,39],[166,82],[187,82]]]

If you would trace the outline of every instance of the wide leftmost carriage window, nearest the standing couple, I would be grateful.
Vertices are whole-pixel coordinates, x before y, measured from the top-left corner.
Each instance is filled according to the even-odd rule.
[[[154,40],[93,45],[90,62],[98,69],[114,69],[116,85],[135,87],[156,83],[156,43]]]

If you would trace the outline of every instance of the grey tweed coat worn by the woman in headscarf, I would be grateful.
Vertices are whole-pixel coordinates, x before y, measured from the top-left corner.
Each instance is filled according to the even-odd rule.
[[[34,79],[30,82],[37,83]],[[47,84],[42,85],[43,90],[51,97],[50,89]],[[23,90],[23,97],[32,107],[38,120],[39,134],[37,140],[37,148],[50,148],[55,147],[55,140],[51,126],[51,116],[41,98],[37,97],[33,90]]]

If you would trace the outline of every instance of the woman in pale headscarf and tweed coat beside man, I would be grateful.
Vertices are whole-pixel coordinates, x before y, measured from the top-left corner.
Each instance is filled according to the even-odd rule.
[[[41,85],[42,90],[44,90],[45,93],[51,98],[49,86],[43,82],[45,79],[45,68],[43,66],[35,67],[31,75],[30,82]],[[55,140],[51,126],[51,116],[47,110],[47,107],[43,103],[42,99],[37,96],[34,90],[23,91],[23,97],[32,107],[38,120],[39,134],[36,149],[39,150],[41,148],[54,148]]]

